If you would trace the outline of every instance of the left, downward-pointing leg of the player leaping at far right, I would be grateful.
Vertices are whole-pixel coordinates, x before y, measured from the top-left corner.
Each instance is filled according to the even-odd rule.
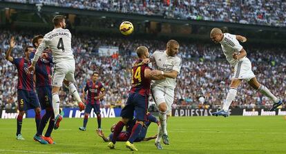
[[[241,84],[242,79],[233,79],[231,80],[229,93],[227,93],[227,98],[225,99],[225,102],[223,103],[222,110],[219,110],[217,112],[211,113],[212,115],[222,115],[224,117],[229,116],[229,106],[231,105],[231,102],[233,102],[233,99],[236,98],[237,88]]]

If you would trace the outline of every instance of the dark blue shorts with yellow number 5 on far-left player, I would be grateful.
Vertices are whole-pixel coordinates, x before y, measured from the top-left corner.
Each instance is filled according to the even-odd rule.
[[[30,110],[40,107],[35,91],[17,90],[18,110]]]

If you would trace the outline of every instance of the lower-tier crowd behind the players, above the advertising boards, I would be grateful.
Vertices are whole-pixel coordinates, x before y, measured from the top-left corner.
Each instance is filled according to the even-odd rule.
[[[35,32],[0,30],[0,108],[17,108],[17,70],[5,59],[9,40],[16,40],[13,57],[23,56],[23,47],[31,44]],[[35,34],[38,35],[38,34]],[[146,39],[120,39],[110,37],[85,37],[73,35],[73,50],[76,60],[75,79],[79,94],[82,94],[87,79],[93,71],[99,72],[99,81],[106,88],[102,107],[122,107],[131,88],[131,66],[136,58],[135,48],[147,46],[149,52],[164,50],[166,42]],[[117,46],[119,55],[99,57],[99,46]],[[285,102],[286,98],[286,52],[285,48],[245,48],[252,61],[252,69],[258,81],[267,86],[274,95]],[[118,53],[116,53],[118,54]],[[225,60],[220,46],[212,44],[192,44],[180,42],[182,69],[175,88],[173,108],[219,108],[229,90],[231,67]],[[63,87],[61,104],[76,107],[72,95]],[[150,97],[150,104],[154,104]],[[238,95],[231,104],[233,108],[269,108],[272,102],[251,89],[246,81],[238,88]],[[286,107],[286,106],[284,106]]]

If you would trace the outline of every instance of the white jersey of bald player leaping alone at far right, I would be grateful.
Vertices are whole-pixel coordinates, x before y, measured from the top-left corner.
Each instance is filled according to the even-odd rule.
[[[224,33],[220,44],[222,46],[222,51],[227,58],[227,61],[229,61],[229,64],[231,64],[231,66],[234,66],[239,60],[233,59],[232,55],[234,52],[240,52],[240,50],[242,50],[243,48],[236,39],[236,35]]]

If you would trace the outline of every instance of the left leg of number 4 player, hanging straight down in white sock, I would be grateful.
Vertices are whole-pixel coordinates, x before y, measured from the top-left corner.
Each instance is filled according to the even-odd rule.
[[[52,96],[53,96],[53,109],[55,113],[55,126],[54,129],[59,128],[59,122],[61,122],[61,115],[59,115],[59,88],[57,86],[53,86],[52,88]]]

